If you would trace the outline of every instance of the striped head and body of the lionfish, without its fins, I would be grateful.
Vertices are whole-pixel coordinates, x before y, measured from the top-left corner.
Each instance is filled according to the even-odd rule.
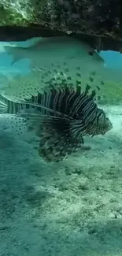
[[[70,119],[73,124],[71,130],[75,137],[78,134],[79,136],[105,134],[112,124],[109,118],[105,117],[104,111],[94,102],[95,92],[89,94],[89,90],[88,85],[82,93],[79,85],[76,90],[66,85],[57,89],[51,87],[50,91],[45,91],[36,98],[32,96],[27,102],[30,104],[32,102],[33,107],[43,115]]]

